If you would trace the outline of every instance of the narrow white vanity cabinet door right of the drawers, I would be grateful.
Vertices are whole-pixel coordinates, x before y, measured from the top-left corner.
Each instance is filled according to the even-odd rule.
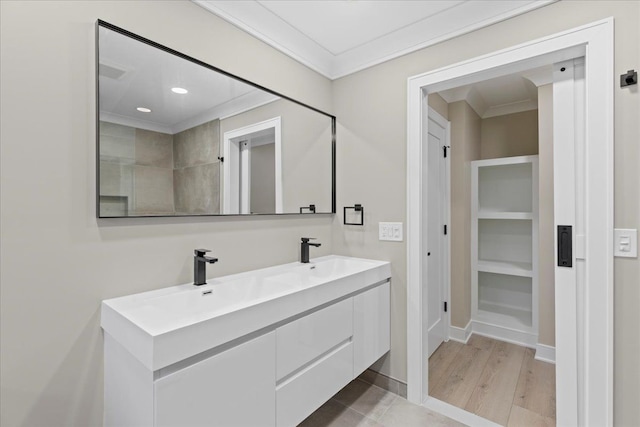
[[[353,374],[360,375],[390,348],[389,282],[353,297]]]

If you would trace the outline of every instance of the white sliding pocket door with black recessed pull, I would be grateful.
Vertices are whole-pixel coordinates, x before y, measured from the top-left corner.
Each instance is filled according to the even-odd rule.
[[[572,242],[569,262],[559,266],[556,250],[555,306],[556,306],[556,421],[560,425],[584,425],[578,401],[581,401],[579,378],[583,377],[584,351],[579,337],[579,303],[583,292],[578,283],[584,283],[584,58],[554,64],[553,121],[573,123],[573,126],[553,127],[553,187],[555,245],[558,239]],[[561,144],[559,141],[571,141]],[[566,226],[571,227],[568,233]],[[559,229],[563,227],[563,231]],[[563,236],[563,237],[561,237]]]

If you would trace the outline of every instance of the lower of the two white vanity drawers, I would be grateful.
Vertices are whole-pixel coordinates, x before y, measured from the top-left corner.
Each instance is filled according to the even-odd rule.
[[[346,341],[276,387],[276,425],[298,425],[352,379],[353,344]]]

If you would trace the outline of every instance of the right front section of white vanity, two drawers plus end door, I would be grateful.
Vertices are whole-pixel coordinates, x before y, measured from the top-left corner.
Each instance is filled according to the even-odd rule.
[[[276,330],[277,425],[295,426],[389,351],[389,282]]]

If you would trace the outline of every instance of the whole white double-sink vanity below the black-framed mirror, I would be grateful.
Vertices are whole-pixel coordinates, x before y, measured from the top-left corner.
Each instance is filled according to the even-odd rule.
[[[105,300],[106,426],[294,426],[389,350],[390,264],[326,256]]]

